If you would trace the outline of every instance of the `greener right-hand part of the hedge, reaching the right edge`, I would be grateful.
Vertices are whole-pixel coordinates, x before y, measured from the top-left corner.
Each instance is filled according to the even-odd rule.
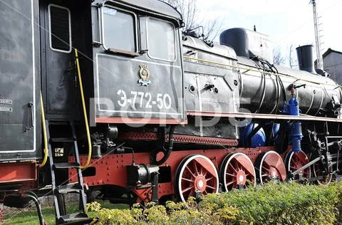
[[[333,224],[338,219],[342,184],[328,187],[301,184],[266,184],[224,194],[209,194],[203,206],[234,206],[237,219],[247,224]],[[342,212],[342,211],[341,211]]]

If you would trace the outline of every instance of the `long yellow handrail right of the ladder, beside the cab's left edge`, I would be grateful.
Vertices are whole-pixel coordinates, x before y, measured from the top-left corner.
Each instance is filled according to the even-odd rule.
[[[80,90],[81,90],[83,116],[84,116],[84,122],[86,124],[86,132],[87,132],[87,139],[88,139],[88,159],[87,159],[86,164],[84,166],[81,166],[81,169],[86,169],[89,166],[90,159],[91,159],[91,140],[90,140],[89,125],[88,125],[88,115],[87,115],[87,110],[86,110],[86,101],[84,100],[84,93],[83,93],[83,85],[82,85],[82,78],[81,78],[80,62],[78,61],[78,50],[76,48],[75,48],[75,57],[76,57],[76,67],[77,67],[78,81],[80,83]]]

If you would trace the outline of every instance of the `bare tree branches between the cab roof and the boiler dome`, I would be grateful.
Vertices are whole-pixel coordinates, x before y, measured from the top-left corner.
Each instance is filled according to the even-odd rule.
[[[213,20],[205,20],[201,19],[199,16],[199,8],[197,5],[197,0],[161,0],[165,1],[168,4],[174,6],[180,14],[183,16],[183,20],[185,22],[185,27],[183,31],[190,32],[197,30],[197,35],[202,36],[203,38],[207,38],[210,41],[214,40],[221,31],[221,27],[223,24],[223,20],[218,17]],[[202,29],[199,30],[200,28]]]

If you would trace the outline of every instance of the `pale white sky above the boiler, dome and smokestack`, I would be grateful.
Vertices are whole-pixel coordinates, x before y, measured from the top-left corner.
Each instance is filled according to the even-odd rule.
[[[315,44],[314,14],[309,0],[197,0],[205,20],[222,20],[222,30],[242,27],[268,35],[274,48]],[[342,51],[342,0],[316,0],[321,48]],[[217,38],[215,41],[219,41]]]

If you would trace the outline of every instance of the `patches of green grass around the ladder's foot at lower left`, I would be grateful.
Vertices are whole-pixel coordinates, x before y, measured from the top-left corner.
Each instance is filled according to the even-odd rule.
[[[110,204],[107,201],[98,201],[101,205],[107,209],[128,209],[128,205],[124,204]],[[69,204],[67,206],[68,213],[75,213],[78,210],[78,204]],[[52,206],[46,206],[42,210],[44,221],[46,224],[55,224],[55,209]],[[95,212],[90,211],[88,216],[95,217]],[[31,224],[39,224],[38,214],[35,207],[30,209],[25,209],[25,211],[16,211],[13,214],[4,215],[4,222],[1,223],[4,225],[10,224],[24,224],[24,225],[31,225]]]

